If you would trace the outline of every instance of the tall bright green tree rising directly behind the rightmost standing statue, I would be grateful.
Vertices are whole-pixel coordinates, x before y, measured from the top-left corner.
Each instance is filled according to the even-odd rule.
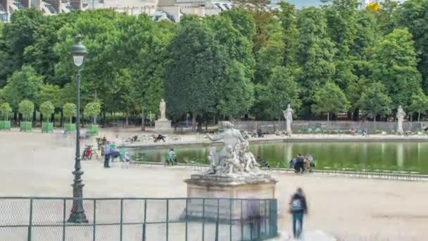
[[[382,82],[393,101],[393,108],[407,109],[410,97],[420,87],[417,58],[412,35],[407,29],[395,29],[376,47],[372,57],[372,80]]]

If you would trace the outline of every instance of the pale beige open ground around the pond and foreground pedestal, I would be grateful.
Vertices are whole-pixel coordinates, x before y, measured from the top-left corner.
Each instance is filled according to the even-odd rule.
[[[0,132],[0,196],[70,197],[74,143],[59,133]],[[185,197],[182,180],[194,173],[185,167],[120,163],[104,169],[96,160],[84,161],[82,168],[84,197]],[[427,182],[273,175],[279,180],[279,229],[287,233],[287,202],[296,187],[303,187],[309,202],[305,230],[323,230],[338,240],[426,240]]]

